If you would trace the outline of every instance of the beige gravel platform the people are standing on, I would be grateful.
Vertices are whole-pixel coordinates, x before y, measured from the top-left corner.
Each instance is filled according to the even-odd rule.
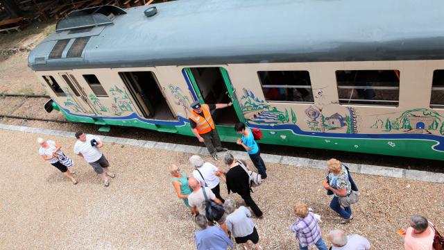
[[[38,156],[37,134],[0,131],[0,249],[194,249],[193,217],[170,182],[168,165],[191,173],[191,153],[105,144],[116,178],[105,188],[83,159],[72,153],[75,139],[54,138],[74,158],[78,185]],[[208,157],[206,160],[214,161]],[[223,167],[221,161],[216,162]],[[325,195],[324,169],[267,165],[269,177],[253,199],[264,211],[254,219],[264,249],[297,249],[289,231],[292,205],[305,201],[323,219],[327,232],[341,228],[364,235],[372,249],[402,249],[396,233],[410,215],[425,215],[444,228],[443,184],[354,174],[361,201],[352,207],[352,223],[336,224]],[[242,203],[237,194],[222,196]],[[241,249],[241,247],[237,247]]]

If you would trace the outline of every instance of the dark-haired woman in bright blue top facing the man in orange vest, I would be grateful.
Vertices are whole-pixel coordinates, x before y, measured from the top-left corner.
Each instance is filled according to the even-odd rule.
[[[266,178],[265,163],[264,160],[262,160],[261,151],[259,150],[257,142],[255,141],[253,132],[251,132],[250,128],[246,128],[245,124],[242,122],[236,124],[234,126],[234,130],[236,133],[242,135],[242,138],[239,138],[236,143],[244,147],[244,149],[247,151],[248,156],[250,156],[251,161],[257,168],[259,174],[262,176],[262,179]]]

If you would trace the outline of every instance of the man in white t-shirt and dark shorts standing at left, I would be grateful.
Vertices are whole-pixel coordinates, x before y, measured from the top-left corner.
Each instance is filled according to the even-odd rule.
[[[74,144],[74,153],[83,157],[94,172],[103,179],[105,187],[110,185],[108,176],[114,178],[116,175],[110,172],[110,163],[105,158],[99,148],[103,147],[103,142],[94,135],[85,135],[82,131],[76,132],[77,142]]]

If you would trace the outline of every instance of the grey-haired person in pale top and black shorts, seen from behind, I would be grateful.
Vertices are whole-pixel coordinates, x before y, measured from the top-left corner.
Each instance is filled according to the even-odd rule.
[[[259,242],[259,235],[251,218],[250,210],[244,206],[236,208],[236,203],[232,199],[226,200],[223,203],[223,208],[225,213],[228,214],[225,219],[227,229],[233,235],[236,243],[243,244],[244,249],[249,249],[250,244],[248,240],[250,240],[253,242],[254,249],[261,250],[262,247],[257,244]]]

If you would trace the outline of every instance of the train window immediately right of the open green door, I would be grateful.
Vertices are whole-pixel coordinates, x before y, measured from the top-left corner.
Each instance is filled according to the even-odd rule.
[[[264,71],[257,75],[266,101],[314,102],[307,71]]]

